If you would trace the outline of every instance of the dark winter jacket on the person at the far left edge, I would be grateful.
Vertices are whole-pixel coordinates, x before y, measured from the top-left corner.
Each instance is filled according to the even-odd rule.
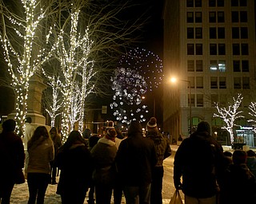
[[[22,139],[13,131],[0,134],[0,184],[15,182],[18,171],[24,167],[24,147]]]

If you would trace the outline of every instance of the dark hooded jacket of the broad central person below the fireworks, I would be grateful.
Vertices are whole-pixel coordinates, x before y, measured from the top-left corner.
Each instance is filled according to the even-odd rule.
[[[118,148],[116,163],[124,186],[144,186],[151,182],[157,155],[154,143],[143,137],[140,125],[130,125],[128,137]]]

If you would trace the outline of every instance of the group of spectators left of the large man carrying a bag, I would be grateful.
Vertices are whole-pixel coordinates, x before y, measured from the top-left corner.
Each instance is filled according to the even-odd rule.
[[[130,123],[126,137],[114,122],[106,124],[106,134],[92,135],[71,131],[62,144],[58,129],[34,128],[26,118],[25,136],[14,132],[16,122],[6,120],[0,135],[0,201],[10,203],[14,184],[25,182],[28,204],[44,203],[49,184],[58,184],[63,204],[88,203],[162,203],[163,160],[171,155],[170,143],[159,131],[152,117],[143,135],[142,125]],[[24,174],[22,170],[24,169]],[[60,171],[58,183],[57,172]]]

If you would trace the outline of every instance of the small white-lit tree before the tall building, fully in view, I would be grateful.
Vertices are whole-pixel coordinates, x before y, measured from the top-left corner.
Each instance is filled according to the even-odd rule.
[[[241,115],[242,111],[238,111],[238,108],[242,103],[242,99],[242,94],[238,94],[237,98],[233,97],[234,103],[230,104],[227,108],[219,107],[218,104],[216,104],[218,113],[214,113],[214,117],[219,117],[226,123],[223,128],[229,132],[231,143],[234,143],[234,121],[238,118],[244,117]]]

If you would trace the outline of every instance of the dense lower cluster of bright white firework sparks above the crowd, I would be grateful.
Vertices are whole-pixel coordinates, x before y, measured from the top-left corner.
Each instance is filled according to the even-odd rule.
[[[142,95],[146,93],[144,78],[136,70],[121,68],[116,70],[112,81],[115,95],[110,108],[115,109],[116,120],[122,124],[130,124],[131,120],[146,121],[146,105],[142,104]]]

